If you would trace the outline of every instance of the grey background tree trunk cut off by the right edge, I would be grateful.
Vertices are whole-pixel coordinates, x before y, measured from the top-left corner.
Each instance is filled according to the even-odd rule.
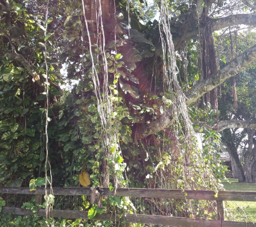
[[[254,129],[247,129],[248,133],[248,148],[245,153],[245,182],[256,183],[256,140]]]

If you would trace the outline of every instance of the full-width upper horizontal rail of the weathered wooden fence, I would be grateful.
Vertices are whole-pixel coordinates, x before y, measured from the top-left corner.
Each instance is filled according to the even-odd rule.
[[[9,194],[33,194],[44,195],[44,188],[37,188],[30,191],[29,188],[11,188],[0,187],[0,193]],[[48,189],[48,193],[50,190]],[[90,195],[89,188],[61,188],[54,187],[53,193],[55,195]],[[101,195],[114,195],[113,191],[108,188],[102,188]],[[185,195],[186,194],[186,195]],[[142,189],[142,188],[117,188],[116,196],[130,196],[130,197],[146,197],[146,198],[180,198],[180,199],[194,199],[194,200],[219,200],[219,201],[256,201],[256,191],[219,191],[218,197],[215,198],[214,191],[206,190],[176,190],[176,189]]]

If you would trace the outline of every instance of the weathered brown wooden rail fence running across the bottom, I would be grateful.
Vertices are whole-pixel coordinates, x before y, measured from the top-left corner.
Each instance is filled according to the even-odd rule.
[[[50,193],[50,191],[48,191]],[[53,188],[54,195],[91,195],[89,188]],[[8,188],[0,187],[1,194],[32,194],[36,195],[36,202],[40,203],[41,195],[45,194],[44,188],[37,188],[35,191],[30,191],[29,188]],[[186,195],[185,195],[186,194]],[[101,189],[102,196],[113,196],[113,191],[108,188]],[[199,219],[199,218],[184,218],[184,217],[170,217],[160,215],[142,215],[142,214],[126,214],[121,220],[115,220],[115,215],[112,214],[96,214],[93,218],[100,221],[126,221],[127,223],[143,223],[143,224],[157,224],[167,226],[181,226],[181,227],[255,227],[255,223],[249,222],[231,222],[224,220],[223,201],[256,201],[255,191],[219,191],[218,196],[215,197],[214,191],[199,191],[199,190],[176,190],[176,189],[139,189],[139,188],[118,188],[115,196],[129,196],[129,197],[146,197],[146,198],[175,198],[175,199],[192,199],[192,200],[215,200],[217,201],[218,219]],[[2,212],[12,212],[16,215],[33,215],[31,210],[25,210],[14,207],[3,207]],[[37,212],[39,216],[45,216],[45,209],[39,209]],[[256,210],[255,210],[256,215]],[[53,210],[54,217],[64,218],[80,218],[88,219],[86,211],[75,210]]]

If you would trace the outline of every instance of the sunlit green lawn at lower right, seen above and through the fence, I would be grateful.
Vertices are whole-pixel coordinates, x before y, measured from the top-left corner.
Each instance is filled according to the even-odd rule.
[[[256,191],[256,183],[239,183],[238,179],[222,181],[225,190]],[[225,219],[237,222],[256,222],[256,202],[226,201]]]

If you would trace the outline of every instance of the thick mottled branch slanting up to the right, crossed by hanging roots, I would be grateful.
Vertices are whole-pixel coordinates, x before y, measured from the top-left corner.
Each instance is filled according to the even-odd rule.
[[[211,91],[225,80],[244,70],[248,65],[253,63],[254,59],[256,59],[256,45],[252,46],[246,52],[232,60],[229,65],[223,69],[220,69],[209,78],[200,81],[195,86],[193,86],[188,92],[185,93],[185,96],[187,97],[186,105],[188,106],[195,102],[203,94]],[[172,107],[168,108],[167,111],[160,116],[160,118],[143,126],[141,136],[147,137],[150,134],[154,134],[163,130],[165,127],[171,124],[171,120],[173,119],[174,114],[179,113],[174,113]]]

